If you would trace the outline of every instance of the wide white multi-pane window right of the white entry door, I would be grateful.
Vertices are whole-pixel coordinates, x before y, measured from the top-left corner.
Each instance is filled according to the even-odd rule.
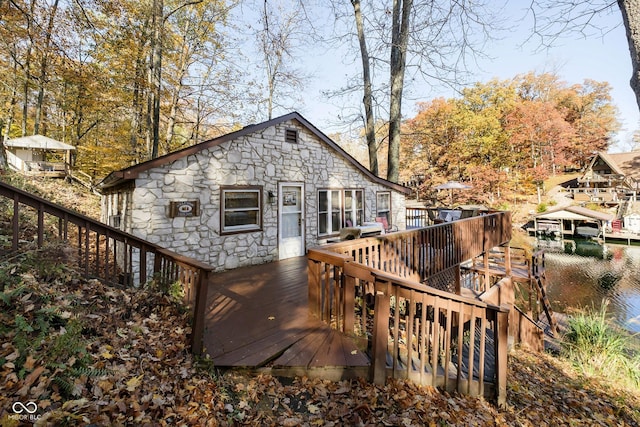
[[[363,190],[318,191],[318,235],[336,234],[364,222]]]

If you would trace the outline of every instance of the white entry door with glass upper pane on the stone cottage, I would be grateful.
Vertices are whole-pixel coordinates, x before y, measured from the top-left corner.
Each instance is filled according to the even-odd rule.
[[[304,184],[278,185],[279,259],[303,256],[304,248]]]

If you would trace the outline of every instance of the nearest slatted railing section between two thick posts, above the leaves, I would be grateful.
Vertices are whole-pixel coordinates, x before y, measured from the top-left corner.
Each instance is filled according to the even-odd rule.
[[[420,289],[420,285],[386,274],[376,276],[375,290],[372,332],[375,357],[371,366],[374,382],[383,384],[387,375],[413,378],[447,390],[490,395],[498,404],[504,404],[509,309],[434,289]],[[433,315],[429,317],[427,311]],[[389,319],[389,323],[383,319]],[[488,330],[492,331],[492,352],[487,348]],[[393,343],[392,351],[389,342]],[[466,354],[461,351],[464,348]],[[387,366],[389,352],[391,367]],[[449,377],[451,365],[456,366],[455,379]],[[492,380],[492,388],[486,388],[487,379]]]

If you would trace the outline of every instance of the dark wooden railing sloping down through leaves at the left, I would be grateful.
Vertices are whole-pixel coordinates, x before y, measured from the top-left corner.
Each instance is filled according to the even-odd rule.
[[[0,196],[5,198],[0,208],[13,211],[11,236],[6,247],[0,241],[0,251],[40,248],[45,242],[61,241],[76,249],[72,258],[86,277],[99,278],[109,285],[139,287],[149,280],[164,285],[179,282],[193,314],[191,349],[201,353],[212,267],[3,182]],[[34,230],[29,233],[31,241],[25,239],[25,229],[29,228]]]

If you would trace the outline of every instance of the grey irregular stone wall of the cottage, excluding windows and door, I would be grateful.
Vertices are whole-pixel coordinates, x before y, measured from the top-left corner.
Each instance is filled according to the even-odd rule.
[[[285,142],[286,129],[298,130],[298,143]],[[366,221],[375,217],[376,192],[390,191],[392,222],[404,229],[404,194],[370,181],[297,121],[280,123],[141,173],[132,197],[119,200],[121,206],[127,205],[122,208],[126,210],[122,212],[122,228],[220,271],[274,261],[278,258],[278,204],[268,203],[268,193],[277,194],[281,182],[305,185],[307,248],[323,243],[317,236],[318,189],[364,189]],[[261,231],[220,234],[221,185],[262,186]],[[169,217],[171,201],[196,199],[200,201],[199,216]]]

